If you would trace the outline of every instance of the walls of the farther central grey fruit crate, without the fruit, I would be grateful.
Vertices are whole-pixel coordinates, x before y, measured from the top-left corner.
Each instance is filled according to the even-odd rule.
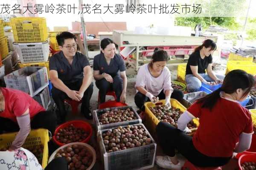
[[[134,115],[137,117],[137,119],[127,120],[127,121],[123,121],[123,122],[109,123],[109,124],[106,124],[106,125],[100,125],[99,124],[98,116],[102,115],[106,111],[111,111],[112,109],[127,109],[127,108],[130,108],[131,111],[134,112]],[[134,125],[134,124],[142,123],[142,120],[141,120],[140,116],[134,110],[134,108],[132,108],[131,106],[121,106],[121,107],[113,107],[113,108],[105,108],[105,109],[95,110],[95,111],[93,111],[93,121],[96,123],[96,130],[97,131],[102,130],[102,129],[110,129],[112,127],[125,126],[125,125]]]

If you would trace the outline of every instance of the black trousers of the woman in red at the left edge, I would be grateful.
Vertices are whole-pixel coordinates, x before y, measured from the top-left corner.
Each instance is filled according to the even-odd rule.
[[[31,129],[48,129],[53,135],[57,126],[57,118],[55,113],[51,111],[41,111],[32,118],[30,125]],[[3,130],[6,132],[17,132],[20,130],[20,127],[11,119],[0,117],[0,131]]]

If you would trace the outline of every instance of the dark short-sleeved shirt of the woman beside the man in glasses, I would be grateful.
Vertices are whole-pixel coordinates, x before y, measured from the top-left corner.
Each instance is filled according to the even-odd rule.
[[[99,71],[99,74],[106,73],[115,77],[119,71],[125,71],[125,62],[119,54],[115,54],[109,65],[103,53],[96,55],[93,59],[93,70]]]

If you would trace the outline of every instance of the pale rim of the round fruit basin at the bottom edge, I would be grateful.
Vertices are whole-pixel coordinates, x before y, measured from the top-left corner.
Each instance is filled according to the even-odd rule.
[[[68,147],[68,146],[73,145],[73,144],[83,145],[83,146],[87,147],[88,150],[90,150],[90,153],[92,153],[92,155],[93,155],[93,162],[92,162],[92,164],[90,165],[90,167],[88,167],[86,170],[92,169],[93,166],[94,166],[94,164],[95,164],[95,162],[96,162],[96,152],[95,152],[95,150],[93,149],[93,147],[91,147],[89,144],[85,144],[85,143],[81,143],[81,142],[73,142],[73,143],[65,144],[65,145],[59,147],[57,150],[55,150],[55,151],[52,153],[52,155],[51,155],[50,158],[49,158],[48,163],[54,159],[55,155],[58,153],[58,151],[59,151],[60,149],[63,149],[63,148],[65,148],[65,147]]]

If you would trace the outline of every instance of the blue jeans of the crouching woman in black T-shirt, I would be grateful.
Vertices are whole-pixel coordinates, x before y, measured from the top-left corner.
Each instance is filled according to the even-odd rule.
[[[199,74],[199,75],[201,77],[203,77],[207,82],[214,82],[214,80],[205,73]],[[215,75],[215,76],[221,80],[223,80],[225,77],[222,75]],[[202,82],[200,81],[200,79],[195,77],[193,74],[187,74],[185,77],[185,81],[186,81],[186,86],[187,86],[188,92],[200,91]]]

